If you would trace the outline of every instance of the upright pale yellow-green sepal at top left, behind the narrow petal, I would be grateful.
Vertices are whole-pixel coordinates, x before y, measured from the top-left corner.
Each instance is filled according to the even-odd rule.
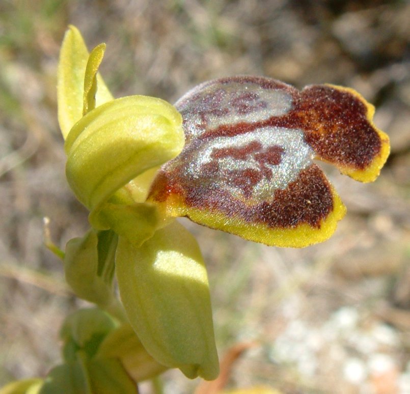
[[[75,26],[69,26],[60,51],[57,82],[59,124],[64,138],[71,127],[83,116],[84,77],[87,61],[88,50],[81,33]],[[97,82],[96,106],[113,100],[112,94],[99,74]]]

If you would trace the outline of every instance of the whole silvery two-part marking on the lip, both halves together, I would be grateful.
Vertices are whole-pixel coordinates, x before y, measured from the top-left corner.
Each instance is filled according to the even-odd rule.
[[[293,108],[292,91],[264,81],[239,77],[205,82],[178,100],[187,144],[192,143],[183,176],[241,200],[264,201],[311,164],[313,150],[302,130],[263,125]],[[241,126],[248,129],[238,131]]]

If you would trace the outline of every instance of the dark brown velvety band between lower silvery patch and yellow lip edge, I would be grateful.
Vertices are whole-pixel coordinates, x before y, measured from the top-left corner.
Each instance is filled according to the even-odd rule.
[[[320,221],[333,210],[333,194],[329,182],[316,164],[300,172],[287,189],[277,190],[274,199],[255,205],[233,199],[226,190],[212,184],[186,183],[176,188],[176,174],[161,173],[151,191],[151,199],[165,201],[168,193],[177,194],[181,204],[188,208],[224,214],[244,221],[261,223],[269,228],[295,228],[301,223],[319,228]],[[244,178],[245,179],[245,178]],[[183,190],[183,192],[182,192]],[[189,216],[189,215],[188,215]]]

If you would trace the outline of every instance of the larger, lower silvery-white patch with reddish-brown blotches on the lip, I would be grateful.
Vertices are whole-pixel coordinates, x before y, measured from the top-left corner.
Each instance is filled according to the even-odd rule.
[[[206,139],[186,168],[189,179],[208,181],[237,197],[271,200],[312,163],[302,130],[263,127],[231,137]],[[209,171],[213,170],[213,171]]]

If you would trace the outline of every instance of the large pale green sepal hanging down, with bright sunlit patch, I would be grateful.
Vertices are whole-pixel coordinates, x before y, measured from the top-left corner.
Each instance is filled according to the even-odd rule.
[[[127,316],[147,351],[189,378],[215,379],[208,278],[195,238],[177,221],[138,249],[120,237],[116,273]]]

